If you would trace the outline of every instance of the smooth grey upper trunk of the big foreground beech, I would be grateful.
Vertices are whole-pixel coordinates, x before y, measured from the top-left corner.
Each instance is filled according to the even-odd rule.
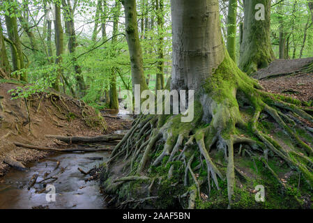
[[[171,89],[201,92],[203,83],[225,56],[218,3],[172,0],[171,9]]]

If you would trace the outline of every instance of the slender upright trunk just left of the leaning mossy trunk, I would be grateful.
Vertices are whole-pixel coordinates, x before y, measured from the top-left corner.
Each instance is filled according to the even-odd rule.
[[[117,36],[116,34],[119,32],[119,15],[121,13],[121,2],[119,0],[115,1],[115,6],[113,8],[114,10],[114,22],[113,22],[113,38],[112,38],[112,57],[116,56],[116,40]],[[110,88],[109,88],[109,107],[111,109],[119,109],[119,98],[117,95],[117,89],[116,89],[116,69],[112,68],[111,73],[111,79],[110,79]]]

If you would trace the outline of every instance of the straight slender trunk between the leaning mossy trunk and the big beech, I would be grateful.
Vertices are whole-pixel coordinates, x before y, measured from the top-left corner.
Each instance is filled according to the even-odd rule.
[[[157,66],[157,75],[155,82],[155,89],[161,90],[164,89],[164,38],[163,38],[163,29],[164,29],[164,4],[163,0],[156,0],[156,13],[158,21],[158,66]]]

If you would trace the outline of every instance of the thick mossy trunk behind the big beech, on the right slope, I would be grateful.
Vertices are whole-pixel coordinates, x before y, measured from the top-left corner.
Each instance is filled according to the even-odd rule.
[[[264,20],[256,20],[257,3],[264,6]],[[239,68],[252,73],[265,68],[273,61],[274,53],[270,43],[270,0],[244,1],[243,43]]]

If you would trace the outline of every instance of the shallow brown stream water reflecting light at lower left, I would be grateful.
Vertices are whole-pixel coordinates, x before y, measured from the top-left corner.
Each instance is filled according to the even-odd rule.
[[[116,114],[121,118],[131,119],[127,114]],[[121,134],[125,130],[115,133]],[[99,145],[89,145],[99,146]],[[114,148],[114,145],[102,144]],[[46,159],[33,162],[26,167],[27,171],[10,170],[6,176],[0,178],[0,209],[3,208],[106,208],[103,194],[100,193],[98,180],[85,181],[88,175],[82,174],[77,168],[89,171],[93,167],[99,167],[109,158],[110,152],[101,151],[95,153],[56,153]],[[58,166],[59,161],[59,167]],[[34,174],[38,174],[37,182],[43,180],[45,173],[58,177],[52,183],[36,183],[28,190],[29,181]],[[49,177],[47,176],[47,177]],[[46,177],[46,178],[47,178]],[[47,185],[55,188],[55,201],[53,190],[45,191]],[[42,193],[37,193],[36,189]],[[53,189],[53,188],[52,188]]]

